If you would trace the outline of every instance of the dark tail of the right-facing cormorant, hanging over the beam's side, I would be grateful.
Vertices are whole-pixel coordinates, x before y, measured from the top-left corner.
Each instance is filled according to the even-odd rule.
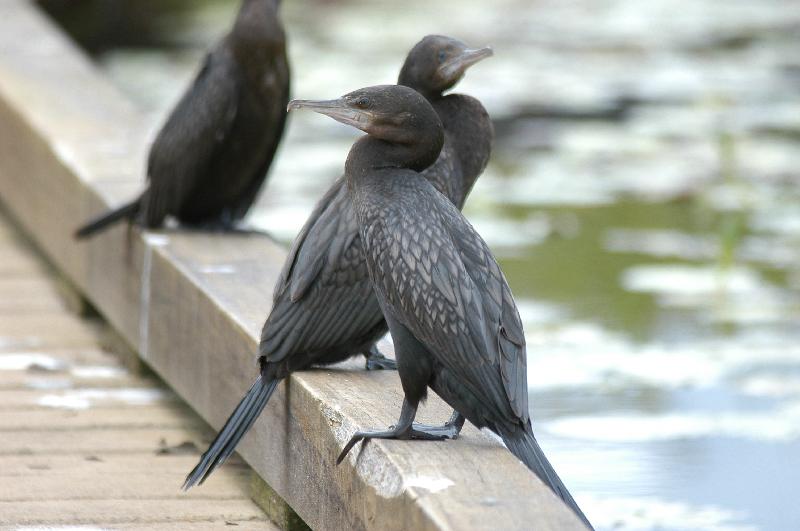
[[[189,490],[195,485],[202,485],[206,478],[230,457],[236,445],[239,444],[269,402],[277,385],[278,380],[264,380],[264,377],[259,375],[225,422],[225,426],[222,427],[216,439],[200,458],[200,462],[186,476],[183,490]]]

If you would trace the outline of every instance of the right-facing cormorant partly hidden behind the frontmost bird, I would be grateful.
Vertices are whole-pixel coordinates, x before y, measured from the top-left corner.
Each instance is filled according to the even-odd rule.
[[[478,100],[442,92],[490,55],[489,48],[471,50],[456,39],[428,36],[409,52],[400,74],[400,83],[426,94],[446,124],[445,149],[423,175],[459,208],[489,161],[494,131]],[[368,369],[395,367],[375,348],[388,327],[363,254],[341,178],[319,201],[286,259],[261,334],[259,377],[186,477],[185,489],[205,481],[225,462],[277,383],[291,372],[359,353],[367,356]],[[463,418],[452,422],[457,433]]]

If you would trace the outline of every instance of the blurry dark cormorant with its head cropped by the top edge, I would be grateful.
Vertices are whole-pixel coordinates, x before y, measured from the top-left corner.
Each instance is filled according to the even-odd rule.
[[[243,0],[233,29],[206,56],[153,142],[147,189],[76,237],[123,219],[159,227],[168,215],[187,225],[233,228],[266,178],[288,100],[278,0]]]

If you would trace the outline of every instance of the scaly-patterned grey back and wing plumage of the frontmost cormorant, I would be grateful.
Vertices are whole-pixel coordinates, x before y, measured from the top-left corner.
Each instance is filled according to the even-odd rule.
[[[503,273],[469,222],[412,171],[372,172],[355,191],[379,297],[464,385],[477,426],[528,420],[525,340]],[[421,213],[425,213],[422,215]]]

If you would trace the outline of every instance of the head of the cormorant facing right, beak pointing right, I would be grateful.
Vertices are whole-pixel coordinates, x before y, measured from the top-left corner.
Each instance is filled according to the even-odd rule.
[[[452,37],[428,35],[408,53],[397,84],[425,97],[440,96],[458,83],[467,68],[492,53],[489,47],[471,49]]]

